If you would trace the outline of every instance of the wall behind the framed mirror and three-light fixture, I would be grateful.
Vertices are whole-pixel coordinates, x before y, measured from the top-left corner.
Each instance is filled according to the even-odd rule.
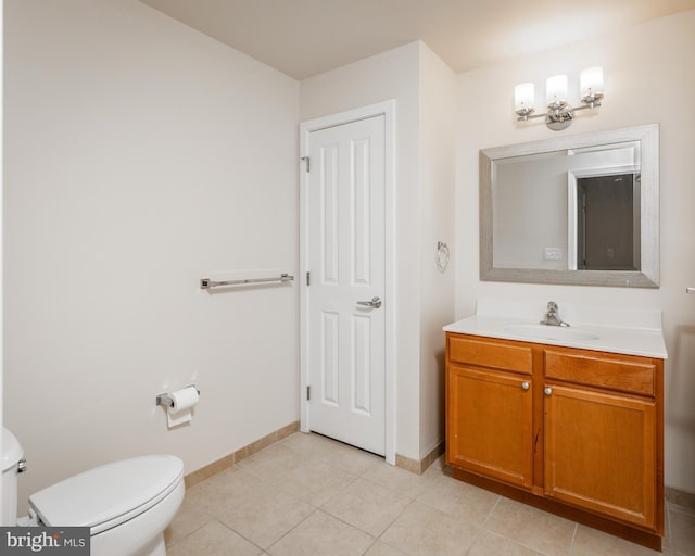
[[[456,314],[478,298],[581,302],[664,311],[666,366],[666,483],[695,492],[695,11],[655,20],[619,36],[465,73],[458,76],[456,173]],[[602,65],[604,105],[582,113],[565,131],[514,118],[514,86]],[[543,97],[541,92],[539,94]],[[570,98],[570,101],[572,99]],[[576,100],[576,99],[574,99]],[[540,103],[539,103],[540,104]],[[478,260],[478,151],[483,148],[641,124],[660,125],[661,288],[639,290],[481,282]]]

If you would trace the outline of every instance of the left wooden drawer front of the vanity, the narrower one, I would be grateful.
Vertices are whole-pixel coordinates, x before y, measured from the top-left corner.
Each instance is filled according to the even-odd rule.
[[[503,341],[476,340],[470,337],[447,334],[448,358],[455,363],[493,367],[531,375],[533,356],[530,346]]]

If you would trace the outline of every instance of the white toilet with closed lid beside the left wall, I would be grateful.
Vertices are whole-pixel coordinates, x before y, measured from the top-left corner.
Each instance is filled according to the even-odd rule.
[[[165,556],[164,529],[184,501],[184,463],[152,455],[89,469],[29,496],[17,519],[17,439],[2,428],[2,526],[89,527],[92,556]]]

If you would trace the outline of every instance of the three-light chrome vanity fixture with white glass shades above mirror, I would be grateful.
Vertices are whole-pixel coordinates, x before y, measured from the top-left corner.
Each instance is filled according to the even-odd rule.
[[[545,84],[545,102],[547,112],[535,114],[533,112],[534,91],[532,83],[522,83],[514,88],[514,105],[517,113],[517,122],[527,122],[538,117],[544,117],[547,127],[559,131],[569,127],[574,119],[578,110],[595,109],[601,106],[604,98],[604,71],[594,66],[583,70],[580,74],[580,89],[582,105],[572,108],[567,103],[567,76],[554,75],[547,78]]]

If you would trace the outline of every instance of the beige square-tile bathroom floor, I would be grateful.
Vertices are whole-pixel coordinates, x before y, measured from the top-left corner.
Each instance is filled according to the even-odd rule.
[[[695,556],[695,510],[667,504],[667,556]],[[595,556],[658,553],[463,483],[293,434],[192,486],[168,556]]]

